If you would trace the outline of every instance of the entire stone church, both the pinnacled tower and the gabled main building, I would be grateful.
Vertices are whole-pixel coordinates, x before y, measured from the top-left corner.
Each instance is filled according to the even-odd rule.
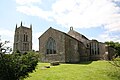
[[[81,61],[111,60],[115,50],[108,45],[89,40],[70,27],[68,33],[50,27],[39,38],[39,53],[42,62],[60,61],[77,63]],[[32,51],[32,25],[30,28],[16,24],[13,52]]]

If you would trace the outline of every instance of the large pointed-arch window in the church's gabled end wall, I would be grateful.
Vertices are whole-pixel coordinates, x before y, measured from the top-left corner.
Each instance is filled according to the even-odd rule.
[[[50,37],[46,43],[46,53],[56,54],[56,43],[52,37]]]

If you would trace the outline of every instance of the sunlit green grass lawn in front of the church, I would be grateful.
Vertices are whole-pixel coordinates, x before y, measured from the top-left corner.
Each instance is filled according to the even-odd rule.
[[[25,80],[120,80],[120,71],[107,61],[60,64],[45,69],[47,65],[50,64],[39,63],[36,71]]]

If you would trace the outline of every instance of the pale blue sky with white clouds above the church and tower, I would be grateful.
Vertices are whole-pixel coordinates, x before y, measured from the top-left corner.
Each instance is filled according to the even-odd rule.
[[[13,47],[15,26],[33,28],[33,50],[49,27],[99,42],[120,42],[120,0],[0,0],[0,35]]]

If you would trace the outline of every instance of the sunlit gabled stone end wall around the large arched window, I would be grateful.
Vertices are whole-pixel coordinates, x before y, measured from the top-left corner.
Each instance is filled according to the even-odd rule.
[[[56,42],[56,54],[46,54],[46,43],[49,37],[52,37]],[[65,62],[65,47],[64,34],[49,28],[39,38],[39,51],[42,55],[43,62],[60,61]]]

